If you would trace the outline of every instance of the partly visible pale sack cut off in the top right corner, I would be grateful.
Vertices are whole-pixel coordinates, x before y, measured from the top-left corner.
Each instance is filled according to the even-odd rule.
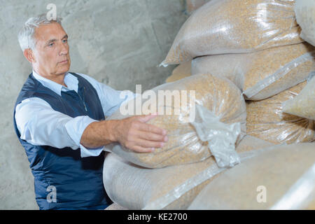
[[[300,37],[315,46],[315,1],[298,0],[294,11],[297,23],[302,28]]]

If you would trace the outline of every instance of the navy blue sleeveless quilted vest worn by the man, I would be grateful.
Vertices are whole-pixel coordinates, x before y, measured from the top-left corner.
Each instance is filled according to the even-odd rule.
[[[33,74],[29,75],[15,103],[38,97],[48,102],[52,109],[72,118],[89,116],[104,120],[102,105],[94,87],[82,76],[78,78],[78,94],[71,90],[62,96],[43,86]],[[80,157],[80,149],[34,146],[20,139],[25,148],[31,172],[34,175],[36,202],[39,209],[105,209],[109,203],[103,185],[104,153],[97,157]]]

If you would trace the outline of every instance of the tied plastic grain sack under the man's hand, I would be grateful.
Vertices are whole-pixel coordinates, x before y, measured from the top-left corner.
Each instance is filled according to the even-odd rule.
[[[165,98],[167,99],[164,100]],[[212,137],[217,138],[210,141],[210,144],[208,140],[200,140],[193,125],[193,121],[196,122],[195,125],[203,124],[200,120],[204,118],[204,114],[200,117],[199,109],[206,109],[207,116],[212,116],[215,120],[204,129],[216,131],[215,134],[212,133]],[[156,148],[153,153],[136,153],[120,144],[109,144],[105,146],[105,151],[116,153],[142,167],[166,167],[204,160],[213,155],[216,149],[231,149],[235,142],[230,141],[236,137],[238,142],[243,137],[240,132],[246,133],[246,104],[240,90],[230,80],[211,74],[190,76],[155,87],[127,102],[127,105],[122,105],[108,120],[147,115],[157,111],[161,115],[150,120],[148,124],[167,130],[169,141],[165,146]],[[191,120],[194,118],[193,114],[195,120]],[[235,148],[232,151],[235,152]]]

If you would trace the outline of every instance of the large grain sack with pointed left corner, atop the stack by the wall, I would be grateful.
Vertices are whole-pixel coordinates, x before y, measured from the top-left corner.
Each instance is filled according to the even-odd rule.
[[[302,42],[295,1],[212,0],[183,24],[161,65]]]

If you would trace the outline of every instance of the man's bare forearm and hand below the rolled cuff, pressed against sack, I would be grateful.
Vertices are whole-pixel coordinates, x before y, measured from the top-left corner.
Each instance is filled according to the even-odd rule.
[[[99,148],[119,142],[125,148],[139,153],[150,153],[162,148],[168,141],[167,131],[147,124],[158,115],[132,116],[122,120],[103,120],[88,125],[80,144],[86,148]]]

